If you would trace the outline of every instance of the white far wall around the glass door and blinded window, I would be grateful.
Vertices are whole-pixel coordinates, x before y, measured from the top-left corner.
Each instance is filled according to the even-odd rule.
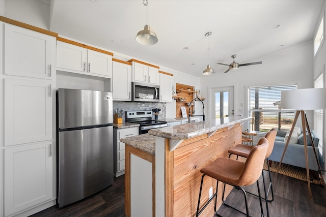
[[[297,83],[298,88],[313,87],[312,53],[312,42],[307,42],[251,61],[262,61],[261,65],[244,66],[240,67],[239,71],[225,74],[223,72],[227,67],[216,67],[215,69],[218,69],[216,74],[208,75],[201,80],[201,95],[207,98],[210,88],[234,86],[235,115],[246,116],[248,115],[246,87],[293,83]],[[240,104],[243,104],[241,107],[243,113],[239,112]],[[205,108],[208,116],[209,107]],[[307,116],[311,118],[312,113],[307,113]]]

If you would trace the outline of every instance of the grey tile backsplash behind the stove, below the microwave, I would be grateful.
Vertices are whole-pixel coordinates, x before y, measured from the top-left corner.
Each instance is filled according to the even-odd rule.
[[[149,110],[151,111],[154,108],[160,108],[162,113],[158,114],[158,119],[166,118],[167,109],[166,103],[156,103],[156,102],[123,102],[123,101],[113,101],[113,111],[119,108],[123,110],[122,120],[126,121],[125,111],[140,111],[140,110]],[[154,113],[153,113],[153,119]]]

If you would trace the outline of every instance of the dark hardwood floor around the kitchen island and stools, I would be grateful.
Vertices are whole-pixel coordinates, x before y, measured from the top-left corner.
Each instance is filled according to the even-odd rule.
[[[268,173],[265,171],[266,176]],[[307,182],[288,176],[271,173],[273,179],[274,201],[268,203],[269,216],[324,216],[326,217],[326,190],[320,185],[311,184],[313,199],[308,197]],[[262,181],[260,178],[260,187]],[[257,193],[257,185],[246,187],[246,190]],[[261,190],[262,191],[262,190]],[[269,197],[270,198],[270,197]],[[250,215],[260,216],[260,206],[257,197],[248,196]],[[233,189],[226,202],[241,209],[244,207],[243,194]],[[263,203],[264,216],[266,215],[265,203]],[[245,210],[242,208],[241,210]],[[244,216],[243,214],[222,205],[219,214],[223,216]],[[52,206],[33,217],[38,216],[110,216],[120,217],[124,214],[124,175],[115,178],[111,187],[74,204],[63,208]],[[216,215],[215,215],[216,216]],[[138,217],[138,216],[135,216]]]

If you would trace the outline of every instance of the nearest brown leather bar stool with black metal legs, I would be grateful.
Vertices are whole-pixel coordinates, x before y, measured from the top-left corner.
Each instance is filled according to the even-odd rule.
[[[217,197],[218,197],[219,181],[224,182],[224,188],[223,188],[223,194],[222,194],[223,204],[226,205],[227,207],[233,208],[243,214],[247,214],[248,217],[249,217],[249,208],[248,208],[248,202],[247,202],[247,194],[246,194],[246,191],[244,191],[240,186],[247,186],[247,185],[251,185],[254,182],[256,182],[257,188],[258,188],[258,194],[259,194],[261,216],[264,216],[261,197],[260,197],[258,178],[259,178],[261,170],[263,168],[267,148],[268,148],[268,141],[266,138],[263,137],[259,140],[257,146],[254,146],[252,148],[246,162],[235,161],[235,160],[229,159],[229,158],[218,158],[215,161],[213,161],[212,163],[210,163],[209,165],[207,165],[206,167],[204,167],[203,169],[201,169],[200,172],[203,173],[203,175],[202,175],[202,179],[201,179],[201,183],[200,183],[200,191],[199,191],[196,216],[199,216],[202,213],[202,211],[207,207],[207,205],[214,198],[215,198],[215,201],[214,201],[215,214],[218,216],[221,216],[217,213],[217,210],[216,210],[216,201],[217,201]],[[209,176],[209,177],[217,180],[216,181],[216,192],[207,201],[207,203],[205,203],[205,205],[199,210],[204,176]],[[244,213],[244,212],[230,206],[229,204],[225,203],[225,201],[224,201],[225,184],[230,184],[233,187],[240,189],[243,192],[244,200],[246,203],[246,212],[247,213]]]

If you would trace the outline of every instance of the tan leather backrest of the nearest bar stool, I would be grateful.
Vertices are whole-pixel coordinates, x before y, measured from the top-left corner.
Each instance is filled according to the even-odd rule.
[[[258,141],[257,146],[251,149],[239,177],[239,186],[250,185],[258,180],[263,169],[267,148],[268,141],[263,137]]]

